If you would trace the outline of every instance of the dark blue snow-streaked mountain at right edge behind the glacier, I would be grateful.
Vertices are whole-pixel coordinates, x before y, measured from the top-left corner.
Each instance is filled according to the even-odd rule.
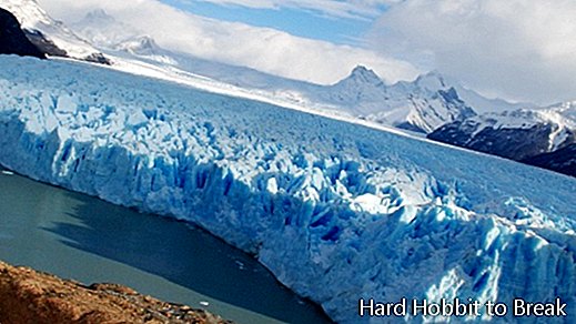
[[[485,113],[445,124],[428,138],[516,161],[527,160],[576,142],[576,102]]]

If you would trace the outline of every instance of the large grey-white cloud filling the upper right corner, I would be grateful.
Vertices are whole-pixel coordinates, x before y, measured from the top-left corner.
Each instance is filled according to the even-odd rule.
[[[406,0],[371,40],[487,93],[549,103],[576,99],[575,17],[574,0]]]

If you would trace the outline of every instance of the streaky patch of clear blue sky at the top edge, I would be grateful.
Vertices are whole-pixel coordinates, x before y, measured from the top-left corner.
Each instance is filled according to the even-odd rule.
[[[377,6],[373,8],[373,14],[363,12],[364,14],[352,13],[348,17],[335,17],[317,9],[297,8],[296,6],[267,9],[209,1],[161,1],[208,18],[273,28],[293,36],[348,45],[362,45],[362,39],[372,28],[376,14],[385,10],[384,6]]]

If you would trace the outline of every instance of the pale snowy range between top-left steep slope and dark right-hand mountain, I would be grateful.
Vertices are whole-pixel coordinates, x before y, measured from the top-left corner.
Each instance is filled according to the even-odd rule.
[[[128,52],[160,69],[181,71],[181,74],[193,73],[286,102],[335,110],[423,133],[432,132],[444,123],[468,118],[475,111],[516,108],[503,100],[486,99],[438,72],[427,73],[413,82],[387,85],[374,71],[358,65],[340,82],[319,85],[211,62],[162,49],[152,38],[103,10],[88,13],[72,27],[104,51],[112,51],[111,54],[123,55],[119,51]]]

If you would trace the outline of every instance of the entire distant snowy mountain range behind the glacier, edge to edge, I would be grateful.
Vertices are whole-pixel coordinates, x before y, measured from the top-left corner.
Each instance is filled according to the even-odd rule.
[[[437,71],[386,84],[362,65],[335,84],[313,84],[163,49],[104,10],[89,12],[68,28],[34,0],[0,0],[0,7],[11,11],[28,39],[49,55],[331,111],[576,175],[574,103],[537,109],[487,99]]]

